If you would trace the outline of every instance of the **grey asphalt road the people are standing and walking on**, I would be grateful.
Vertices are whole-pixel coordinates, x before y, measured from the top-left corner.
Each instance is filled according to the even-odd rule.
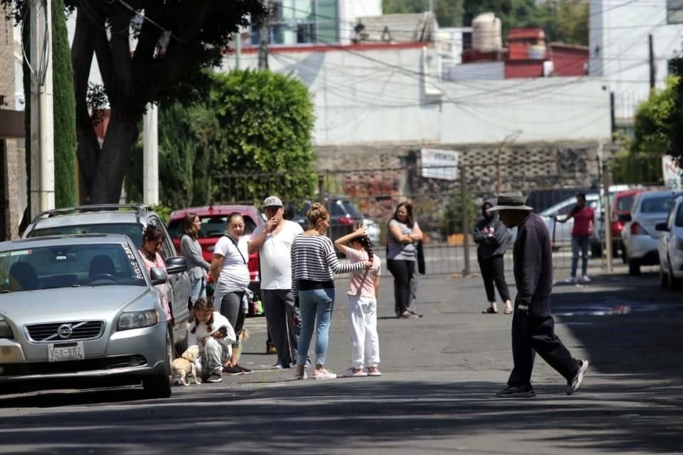
[[[337,282],[329,368],[349,366],[346,282]],[[537,396],[500,400],[511,317],[481,314],[478,278],[423,277],[423,319],[391,317],[380,295],[381,378],[293,380],[270,370],[265,321],[247,320],[252,375],[142,390],[0,395],[0,452],[12,454],[652,454],[683,451],[683,302],[657,275],[558,286],[557,332],[591,360],[583,387],[536,359]]]

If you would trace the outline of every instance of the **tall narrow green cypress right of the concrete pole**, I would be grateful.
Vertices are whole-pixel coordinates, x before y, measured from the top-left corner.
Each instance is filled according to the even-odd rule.
[[[76,204],[76,107],[63,0],[52,0],[52,16],[55,206],[68,207]]]

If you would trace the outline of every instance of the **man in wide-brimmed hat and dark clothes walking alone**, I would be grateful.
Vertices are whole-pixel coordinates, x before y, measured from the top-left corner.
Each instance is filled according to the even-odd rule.
[[[497,205],[489,210],[498,211],[508,228],[517,227],[512,250],[517,286],[512,318],[514,368],[507,387],[497,396],[527,398],[536,395],[531,387],[535,353],[567,380],[567,395],[571,395],[581,387],[588,360],[573,358],[555,335],[555,321],[550,314],[553,257],[546,223],[539,215],[531,213],[531,207],[524,205],[521,193],[500,195]]]

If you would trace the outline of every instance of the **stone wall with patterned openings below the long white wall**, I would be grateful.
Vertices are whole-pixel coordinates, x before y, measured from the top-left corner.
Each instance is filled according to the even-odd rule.
[[[456,150],[466,173],[467,198],[479,205],[499,191],[553,188],[597,188],[600,185],[598,142],[317,147],[316,167],[332,183],[331,193],[356,200],[361,212],[378,221],[391,217],[401,200],[420,205],[421,217],[434,226],[444,223],[446,207],[460,203],[460,171],[454,181],[420,176],[420,147]],[[615,152],[603,146],[603,159]],[[500,165],[496,166],[499,162]],[[500,184],[498,183],[500,181]]]

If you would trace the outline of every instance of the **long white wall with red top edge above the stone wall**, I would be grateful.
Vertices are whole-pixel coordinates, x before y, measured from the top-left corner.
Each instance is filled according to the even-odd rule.
[[[422,48],[270,53],[272,70],[300,77],[312,90],[318,145],[497,143],[607,139],[610,105],[603,81],[589,77],[428,82]],[[243,54],[242,68],[257,55]],[[226,59],[229,69],[234,57]]]

